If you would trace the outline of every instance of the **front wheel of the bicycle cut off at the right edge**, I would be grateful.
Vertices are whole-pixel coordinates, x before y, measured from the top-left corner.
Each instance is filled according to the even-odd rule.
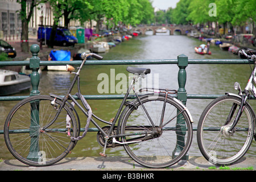
[[[236,117],[241,98],[221,96],[205,107],[197,127],[197,143],[201,154],[217,166],[229,166],[238,162],[249,150],[253,140],[255,113],[247,104],[234,128],[233,134],[226,134],[223,127],[232,105],[237,105],[232,120]]]

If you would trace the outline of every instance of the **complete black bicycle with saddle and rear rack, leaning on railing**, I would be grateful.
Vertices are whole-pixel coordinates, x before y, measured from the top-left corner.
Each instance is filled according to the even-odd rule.
[[[127,67],[128,72],[134,73],[133,80],[113,121],[104,121],[92,113],[80,92],[79,75],[88,56],[102,59],[95,53],[82,53],[83,61],[77,72],[67,65],[67,71],[75,77],[64,97],[31,96],[10,111],[4,135],[11,154],[30,166],[49,166],[71,152],[77,141],[85,137],[92,122],[98,129],[97,141],[104,147],[100,153],[104,157],[107,147],[123,146],[135,162],[145,167],[164,168],[183,159],[191,146],[193,121],[187,107],[170,96],[177,91],[154,88],[135,91],[134,82],[150,73],[150,69]],[[78,93],[72,95],[76,81]],[[136,98],[128,101],[131,90]],[[84,129],[80,129],[75,106],[86,116]],[[106,126],[100,127],[96,119]],[[80,131],[83,131],[81,136]]]

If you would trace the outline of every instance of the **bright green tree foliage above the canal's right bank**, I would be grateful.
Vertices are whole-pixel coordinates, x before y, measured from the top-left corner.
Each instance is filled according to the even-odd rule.
[[[179,3],[187,5],[186,0],[180,0]],[[183,10],[180,10],[178,6],[175,13],[178,15],[184,15]],[[210,16],[209,7],[210,3],[216,5],[216,16]],[[255,0],[191,0],[188,5],[188,14],[186,20],[191,20],[193,23],[207,23],[207,22],[218,22],[227,23],[230,22],[233,25],[240,25],[241,23],[246,23],[247,20],[251,22],[256,21],[256,3]],[[175,15],[176,15],[175,14]],[[180,23],[177,20],[177,23]]]

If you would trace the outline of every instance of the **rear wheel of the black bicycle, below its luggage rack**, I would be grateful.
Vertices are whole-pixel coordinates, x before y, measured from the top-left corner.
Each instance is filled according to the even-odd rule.
[[[142,142],[124,144],[123,147],[127,154],[137,163],[148,168],[165,168],[172,166],[181,159],[186,158],[186,154],[192,142],[192,123],[187,111],[178,104],[173,98],[167,97],[163,123],[173,120],[160,129],[160,120],[164,104],[164,96],[151,95],[140,98],[143,106],[148,111],[152,121],[159,132],[155,134],[139,134],[139,132],[152,131],[152,125],[148,122],[146,114],[143,112],[139,100],[133,101],[133,106],[127,106],[123,110],[119,131],[122,134],[137,132],[138,135],[122,137],[122,142],[127,142],[134,137],[140,136]],[[183,111],[178,115],[182,123],[176,125],[177,111]],[[175,117],[176,116],[176,117]],[[161,125],[163,126],[163,125]],[[181,129],[181,126],[182,129]],[[180,127],[180,131],[179,128]],[[155,131],[156,131],[155,130]],[[184,139],[182,136],[184,135]],[[146,138],[144,138],[146,137]],[[149,138],[147,138],[149,137]],[[179,142],[177,142],[179,138]],[[181,142],[182,141],[182,142]]]

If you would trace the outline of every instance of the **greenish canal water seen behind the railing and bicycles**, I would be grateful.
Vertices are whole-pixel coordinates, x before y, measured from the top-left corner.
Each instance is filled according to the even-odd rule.
[[[189,38],[184,35],[156,34],[148,31],[146,35],[130,39],[111,48],[106,53],[101,53],[105,60],[164,60],[177,59],[178,55],[184,54],[188,59],[240,59],[227,51],[222,51],[217,46],[211,46],[212,55],[198,55],[194,51],[195,46],[199,46],[202,42],[197,39]],[[129,75],[126,71],[127,65],[88,65],[81,72],[81,90],[84,95],[94,95],[102,93],[102,89],[98,87],[102,84],[102,80],[98,76],[109,76],[109,89],[105,89],[105,93],[119,93],[117,88],[119,81],[117,76],[119,73],[125,74],[127,80]],[[163,65],[136,65],[136,67],[150,68],[151,75],[158,78],[159,88],[178,89],[177,72],[179,68],[175,64]],[[185,89],[188,94],[224,94],[225,92],[234,92],[234,82],[240,82],[242,88],[246,85],[250,76],[249,65],[188,65],[187,82]],[[111,76],[111,75],[114,75]],[[71,84],[73,75],[66,72],[50,72],[43,71],[40,78],[39,90],[41,94],[56,93],[64,95],[68,86]],[[112,89],[111,89],[112,88]],[[114,91],[113,91],[114,90]],[[76,93],[74,89],[73,94]],[[21,95],[29,94],[22,93]],[[193,127],[197,127],[198,120],[205,106],[212,100],[195,100],[188,99],[187,107],[193,117]],[[109,121],[115,116],[115,113],[121,104],[121,100],[88,100],[92,107],[93,113]],[[256,109],[256,105],[251,101],[251,105]],[[5,118],[11,108],[16,104],[12,102],[0,102],[0,130],[3,129]],[[86,118],[79,111],[81,127],[85,126]],[[101,125],[104,126],[104,125]],[[90,127],[94,127],[90,125]],[[86,137],[80,140],[73,149],[69,157],[79,156],[98,156],[103,150],[97,143],[95,132],[86,134]],[[255,156],[256,142],[251,145],[247,156]],[[122,155],[125,151],[122,147],[108,148],[108,155]],[[193,143],[188,152],[191,156],[201,156],[197,147],[196,131],[193,132]],[[0,159],[12,158],[10,152],[5,146],[3,135],[0,135]]]

